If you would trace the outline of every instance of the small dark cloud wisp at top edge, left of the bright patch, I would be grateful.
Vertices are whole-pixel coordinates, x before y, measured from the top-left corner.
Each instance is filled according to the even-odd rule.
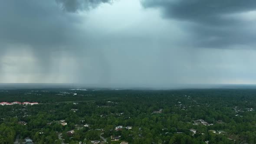
[[[77,10],[89,10],[100,3],[110,3],[112,0],[56,0],[63,10],[76,12]]]

